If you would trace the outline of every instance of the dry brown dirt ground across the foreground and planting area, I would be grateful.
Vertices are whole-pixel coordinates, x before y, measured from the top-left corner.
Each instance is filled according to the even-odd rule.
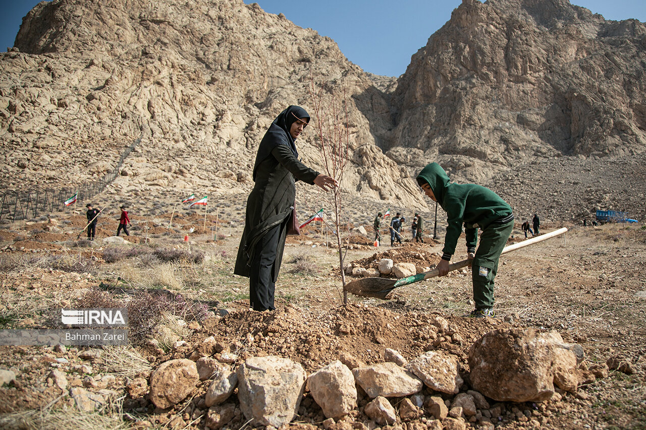
[[[51,309],[74,307],[87,298],[89,291],[99,287],[117,298],[124,298],[129,291],[181,294],[185,300],[205,305],[211,317],[191,322],[189,330],[179,336],[187,342],[181,347],[140,342],[128,347],[129,353],[125,349],[106,348],[103,358],[92,362],[83,358],[83,347],[0,347],[0,369],[16,373],[15,382],[0,388],[0,424],[5,426],[61,428],[60,417],[74,408],[70,398],[48,378],[50,371],[58,368],[67,372],[72,386],[101,386],[102,381],[109,380],[107,388],[120,393],[118,398],[123,407],[120,418],[112,416],[112,427],[104,423],[103,427],[94,428],[149,425],[203,429],[203,422],[194,421],[194,414],[187,411],[198,409],[205,384],[198,387],[193,398],[171,411],[156,410],[150,402],[133,402],[125,387],[136,376],[149,375],[151,369],[165,360],[185,358],[191,347],[208,336],[214,336],[238,361],[275,354],[301,363],[308,373],[338,360],[340,354],[351,354],[370,364],[382,362],[386,348],[399,351],[407,360],[429,349],[442,349],[457,357],[466,376],[469,348],[483,334],[502,327],[532,327],[557,331],[567,342],[579,343],[586,354],[584,366],[605,363],[613,357],[628,365],[610,370],[606,378],[581,385],[577,393],[562,392],[559,400],[541,404],[491,401],[492,408],[499,407],[496,409],[499,415],[492,419],[496,429],[646,428],[643,224],[586,228],[565,225],[570,228],[565,236],[505,254],[496,278],[497,318],[473,319],[466,318],[473,309],[469,269],[399,287],[390,300],[349,295],[348,305],[344,305],[339,254],[326,246],[331,238],[322,237],[315,228],[305,229],[304,235],[287,241],[276,285],[276,311],[254,312],[248,309],[247,280],[232,274],[242,226],[222,227],[219,230],[222,238],[214,240],[213,230],[200,232],[203,219],[199,216],[174,218],[172,228],[167,224],[169,217],[159,216],[156,221],[149,221],[147,228],[151,230],[141,227],[132,231],[133,242],[149,243],[120,247],[140,251],[143,247],[200,250],[205,254],[204,260],[171,265],[152,261],[149,254],[141,251],[108,263],[106,257],[109,252],[114,254],[114,249],[108,250],[116,245],[107,245],[100,238],[93,243],[76,241],[79,225],[76,218],[61,225],[56,234],[35,232],[47,223],[36,227],[24,223],[3,226],[6,228],[0,234],[3,240],[0,329],[47,327]],[[365,227],[370,231],[368,225]],[[543,230],[557,227],[563,226],[545,225]],[[189,234],[191,228],[195,232]],[[109,230],[106,227],[103,236],[112,234]],[[184,241],[186,234],[189,241]],[[523,238],[517,229],[512,241],[519,240]],[[355,262],[363,267],[382,257],[392,258],[395,263],[407,261],[433,267],[443,246],[441,240],[437,243],[427,240],[424,244],[407,240],[392,249],[373,247],[370,237],[354,242],[345,263]],[[458,250],[461,252],[460,245]],[[461,260],[462,256],[456,254],[455,258]],[[167,271],[170,274],[162,278]],[[430,330],[437,316],[457,328],[459,342]],[[115,358],[114,351],[121,351],[117,354],[122,356],[136,354],[140,357],[139,365],[124,364]],[[83,365],[90,365],[90,369]],[[108,376],[114,376],[114,382]],[[428,389],[423,394],[438,395]],[[236,403],[237,399],[232,397],[230,401]],[[359,405],[366,401],[360,399]],[[42,412],[40,424],[34,424],[36,421],[29,413],[43,409],[48,416],[58,416],[58,424],[50,425],[54,420],[45,420]],[[107,409],[103,415],[110,415]],[[21,422],[19,418],[23,427],[17,424]],[[426,428],[426,418],[394,428]],[[357,423],[366,417],[357,415],[354,419]],[[311,396],[306,396],[298,419],[290,427],[323,428],[323,420],[320,408]],[[225,428],[237,430],[244,425],[244,419],[236,416]],[[361,428],[359,424],[353,425]],[[478,428],[476,423],[467,425]]]

